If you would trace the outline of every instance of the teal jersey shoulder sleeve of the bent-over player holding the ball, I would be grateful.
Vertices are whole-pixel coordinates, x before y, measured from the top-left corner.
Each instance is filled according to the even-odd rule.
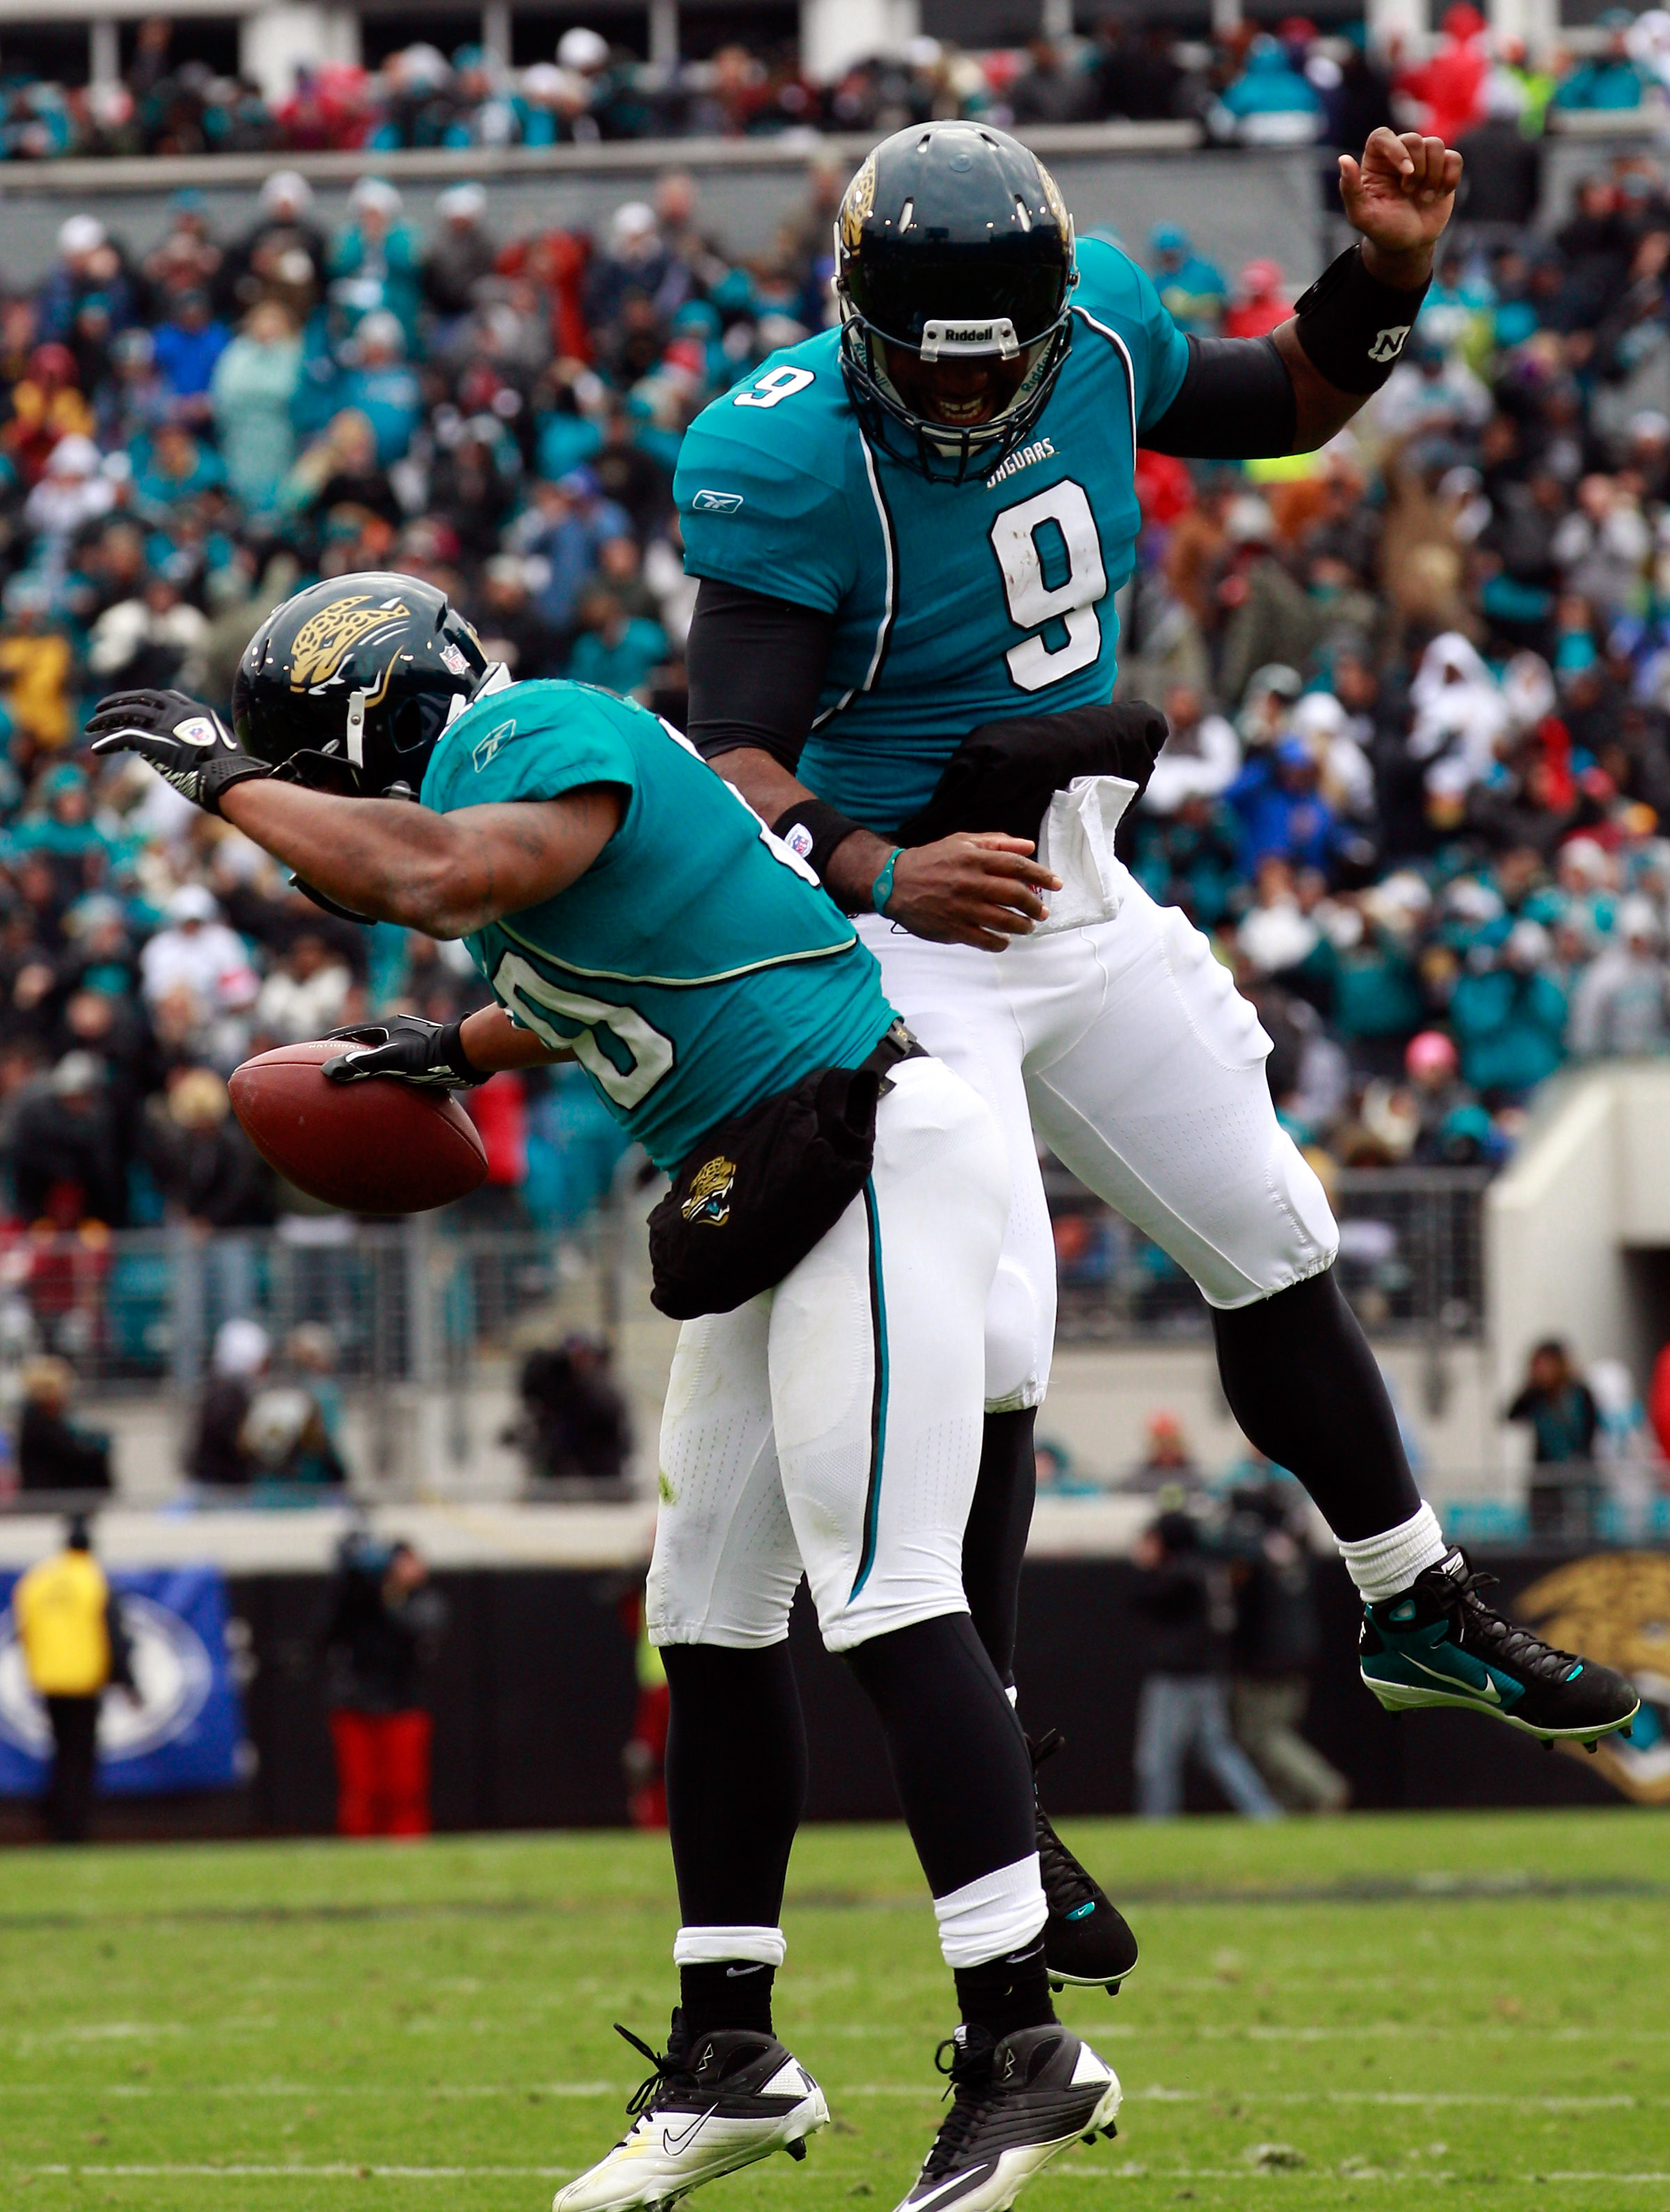
[[[637,790],[628,717],[655,717],[591,684],[507,684],[442,732],[420,799],[440,814],[504,799],[560,799],[582,783]]]

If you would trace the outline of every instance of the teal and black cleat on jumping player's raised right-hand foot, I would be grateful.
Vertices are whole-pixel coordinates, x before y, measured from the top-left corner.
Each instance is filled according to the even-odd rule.
[[[1464,1705],[1544,1743],[1595,1743],[1628,1728],[1641,1708],[1635,1683],[1502,1619],[1480,1597],[1486,1582],[1495,1575],[1475,1575],[1467,1553],[1451,1551],[1402,1597],[1363,1608],[1363,1681],[1387,1712]]]

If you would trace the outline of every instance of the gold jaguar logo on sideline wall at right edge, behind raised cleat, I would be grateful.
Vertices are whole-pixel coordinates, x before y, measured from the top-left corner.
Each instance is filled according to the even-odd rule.
[[[1548,1644],[1630,1677],[1641,1692],[1630,1734],[1601,1736],[1584,1765],[1637,1805],[1670,1805],[1670,1557],[1608,1551],[1573,1559],[1522,1590],[1513,1610]]]

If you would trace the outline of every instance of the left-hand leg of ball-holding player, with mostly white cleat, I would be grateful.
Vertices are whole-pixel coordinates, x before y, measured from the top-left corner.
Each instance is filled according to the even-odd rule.
[[[659,2205],[772,2150],[805,2157],[829,2119],[772,2026],[805,1730],[785,1641],[801,1555],[772,1447],[770,1307],[686,1323],[672,1360],[646,1617],[668,1677],[679,2006],[664,2053],[630,2037],[653,2062],[633,2124],[557,2192],[557,2212]]]

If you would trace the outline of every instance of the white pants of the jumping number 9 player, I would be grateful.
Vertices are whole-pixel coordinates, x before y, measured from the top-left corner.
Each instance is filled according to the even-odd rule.
[[[1000,953],[858,918],[891,1004],[1009,1141],[1009,1230],[987,1307],[991,1411],[1042,1400],[1055,1340],[1033,1128],[1208,1305],[1252,1305],[1338,1252],[1323,1186],[1270,1104],[1259,1015],[1177,907],[1157,907],[1119,863],[1113,883],[1113,920],[1013,938]]]

